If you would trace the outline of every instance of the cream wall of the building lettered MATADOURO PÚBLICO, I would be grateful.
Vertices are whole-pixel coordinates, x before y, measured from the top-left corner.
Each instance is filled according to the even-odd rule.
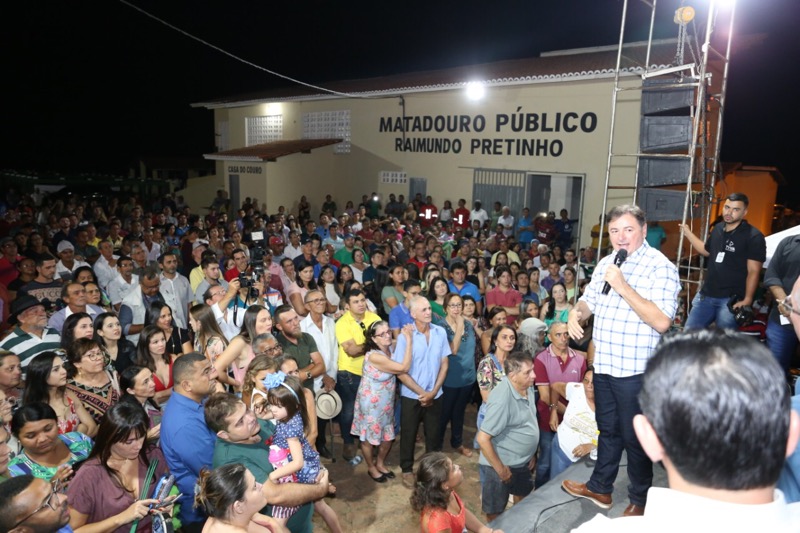
[[[347,200],[356,204],[362,194],[373,191],[381,195],[385,203],[389,193],[403,193],[408,197],[407,187],[380,184],[381,171],[403,171],[409,178],[427,179],[427,194],[441,206],[445,199],[456,204],[458,198],[472,202],[472,181],[474,168],[521,170],[544,174],[571,174],[585,176],[584,216],[581,220],[582,242],[587,242],[591,226],[597,222],[602,209],[603,191],[611,117],[611,95],[613,81],[572,81],[538,85],[517,85],[511,87],[487,88],[486,97],[478,102],[465,98],[462,90],[439,91],[432,93],[412,93],[405,96],[405,115],[437,116],[467,115],[470,124],[478,115],[485,117],[482,132],[407,132],[408,138],[446,138],[461,142],[461,152],[416,153],[396,150],[396,139],[402,138],[400,132],[381,132],[382,118],[396,119],[402,116],[403,108],[396,97],[381,99],[336,99],[310,102],[285,102],[277,104],[251,105],[241,108],[215,110],[215,123],[229,122],[230,148],[245,146],[245,117],[266,114],[283,114],[283,138],[302,137],[304,113],[351,111],[352,150],[350,154],[335,154],[334,147],[313,150],[311,154],[294,154],[279,158],[277,162],[262,163],[265,170],[261,176],[241,179],[241,197],[256,196],[266,199],[270,212],[285,205],[294,211],[301,195],[306,195],[311,203],[311,212],[317,213],[325,194],[331,194],[344,208]],[[617,107],[617,128],[614,151],[632,153],[636,151],[639,130],[639,91],[621,93]],[[511,124],[497,131],[499,115],[519,116],[525,113],[547,114],[553,124],[556,113],[574,112],[582,116],[594,113],[596,126],[591,132],[514,132]],[[471,149],[477,140],[501,139],[502,154],[487,154]],[[506,150],[505,140],[520,139],[547,140],[549,143],[561,142],[563,149],[558,156],[517,155],[512,148]],[[551,144],[552,146],[552,144]],[[257,165],[251,162],[218,162],[218,172],[225,176],[228,186],[230,165]],[[632,185],[634,174],[632,158],[615,158],[611,172],[611,185]],[[262,177],[263,176],[263,177]],[[631,189],[611,190],[610,208],[619,203],[630,202]],[[482,198],[488,206],[493,199]],[[558,211],[559,206],[552,206]],[[573,216],[577,214],[573,213]]]

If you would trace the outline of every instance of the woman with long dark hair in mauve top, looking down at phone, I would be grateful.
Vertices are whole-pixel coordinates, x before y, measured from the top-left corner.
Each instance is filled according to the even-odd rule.
[[[156,485],[169,472],[161,450],[147,445],[147,430],[147,415],[139,405],[121,402],[108,410],[89,458],[69,485],[73,531],[152,531],[150,508],[159,503]],[[150,488],[140,499],[151,463],[156,464]]]

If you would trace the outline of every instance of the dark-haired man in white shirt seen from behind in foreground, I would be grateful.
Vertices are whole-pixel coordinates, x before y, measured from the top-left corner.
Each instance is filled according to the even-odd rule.
[[[797,446],[783,370],[763,344],[722,330],[666,336],[648,362],[634,430],[669,482],[644,516],[598,515],[576,531],[797,531],[776,484]]]

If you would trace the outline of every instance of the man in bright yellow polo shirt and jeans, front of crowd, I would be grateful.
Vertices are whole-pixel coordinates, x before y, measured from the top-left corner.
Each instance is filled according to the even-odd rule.
[[[342,399],[342,412],[339,413],[339,427],[344,441],[342,456],[345,461],[350,461],[356,456],[356,444],[350,429],[364,366],[365,332],[380,317],[367,311],[367,297],[362,290],[348,292],[345,301],[347,312],[336,322],[336,341],[339,343],[336,392]]]

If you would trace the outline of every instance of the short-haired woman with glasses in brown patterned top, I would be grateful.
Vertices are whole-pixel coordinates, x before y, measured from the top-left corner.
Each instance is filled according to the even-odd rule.
[[[119,400],[116,377],[106,369],[105,354],[92,339],[78,339],[67,350],[67,389],[77,397],[98,424]]]

